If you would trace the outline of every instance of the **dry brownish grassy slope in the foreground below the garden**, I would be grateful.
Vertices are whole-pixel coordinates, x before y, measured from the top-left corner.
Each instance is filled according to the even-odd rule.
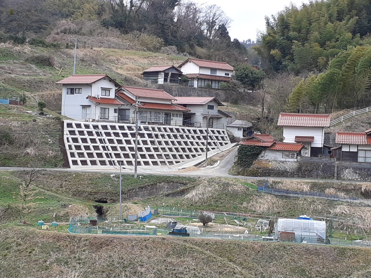
[[[79,236],[27,228],[3,229],[0,238],[0,277],[335,278],[371,274],[368,248]]]

